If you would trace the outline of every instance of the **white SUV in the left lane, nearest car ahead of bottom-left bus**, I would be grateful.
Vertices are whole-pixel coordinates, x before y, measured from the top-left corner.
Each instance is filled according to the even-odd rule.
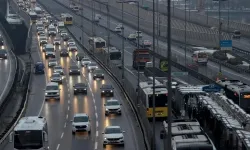
[[[45,88],[45,100],[49,99],[60,100],[59,84],[56,82],[49,82]]]

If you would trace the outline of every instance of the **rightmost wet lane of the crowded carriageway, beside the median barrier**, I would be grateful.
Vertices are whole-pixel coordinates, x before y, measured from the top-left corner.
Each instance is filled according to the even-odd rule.
[[[74,58],[73,58],[74,59]],[[112,79],[108,76],[108,74],[105,73],[105,79],[104,80],[93,80],[93,74],[89,73],[86,71],[86,68],[83,68],[85,71],[83,71],[83,73],[85,73],[86,79],[88,80],[88,82],[90,83],[91,88],[93,89],[93,93],[94,93],[94,97],[95,97],[95,101],[96,101],[96,107],[97,107],[97,114],[98,114],[98,118],[99,118],[99,138],[98,138],[98,146],[102,147],[102,135],[101,132],[103,132],[104,128],[106,126],[109,125],[119,125],[121,126],[121,128],[123,130],[126,131],[126,134],[128,135],[135,135],[134,133],[134,128],[135,126],[132,125],[132,120],[130,117],[128,117],[128,112],[127,109],[128,108],[124,108],[122,111],[123,115],[122,116],[110,116],[110,117],[105,117],[105,107],[104,104],[108,99],[112,99],[112,98],[108,98],[108,97],[101,97],[101,86],[102,84],[111,84],[115,89],[114,89],[114,97],[113,99],[117,99],[120,101],[120,103],[125,105],[125,101],[124,101],[124,97],[122,96],[121,91],[119,90],[119,87],[116,86],[116,83],[114,81],[112,81]],[[125,145],[125,149],[135,149],[136,146],[136,139],[135,138],[128,138],[125,135],[126,138],[126,143],[130,143],[129,146],[128,144]],[[136,136],[133,136],[136,137]],[[111,146],[110,148],[112,149],[117,149],[114,146]],[[119,148],[119,147],[118,147]],[[107,146],[107,149],[109,149],[109,146]]]

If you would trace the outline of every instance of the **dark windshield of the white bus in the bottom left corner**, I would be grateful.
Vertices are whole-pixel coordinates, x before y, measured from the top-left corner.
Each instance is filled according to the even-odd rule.
[[[14,148],[39,149],[43,147],[42,131],[15,131]]]

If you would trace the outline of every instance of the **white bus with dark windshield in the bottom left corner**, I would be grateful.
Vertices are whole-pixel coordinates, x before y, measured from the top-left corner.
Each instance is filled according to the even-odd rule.
[[[21,118],[9,135],[9,142],[15,150],[48,150],[48,127],[44,117],[29,116]]]

